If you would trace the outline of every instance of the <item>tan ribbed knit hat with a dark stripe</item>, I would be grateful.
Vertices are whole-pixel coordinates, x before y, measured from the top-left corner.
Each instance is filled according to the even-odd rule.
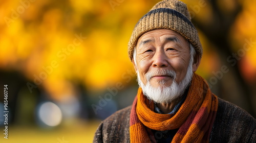
[[[191,22],[186,4],[177,0],[164,0],[157,3],[136,24],[128,43],[130,60],[133,58],[134,47],[141,35],[155,29],[170,29],[185,37],[200,57],[203,49],[198,32]]]

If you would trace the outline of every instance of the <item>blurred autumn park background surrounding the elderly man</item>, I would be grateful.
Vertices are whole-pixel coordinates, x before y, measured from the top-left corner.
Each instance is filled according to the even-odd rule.
[[[146,0],[0,1],[0,91],[8,85],[8,138],[92,142],[104,118],[132,104],[127,43]],[[197,73],[218,97],[255,117],[256,1],[183,1],[204,54]]]

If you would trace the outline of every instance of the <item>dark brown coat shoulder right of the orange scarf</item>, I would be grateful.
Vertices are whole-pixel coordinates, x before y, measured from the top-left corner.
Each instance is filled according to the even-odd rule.
[[[219,106],[210,142],[254,142],[256,120],[244,109],[218,99]]]

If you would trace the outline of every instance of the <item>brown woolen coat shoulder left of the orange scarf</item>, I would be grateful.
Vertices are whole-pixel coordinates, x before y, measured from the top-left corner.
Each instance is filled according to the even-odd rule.
[[[128,106],[102,121],[95,133],[94,142],[130,142],[130,113]]]

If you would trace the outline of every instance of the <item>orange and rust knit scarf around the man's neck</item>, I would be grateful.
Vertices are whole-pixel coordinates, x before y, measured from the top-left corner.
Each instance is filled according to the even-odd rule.
[[[138,89],[130,115],[131,142],[156,142],[151,131],[178,129],[172,142],[209,142],[218,109],[218,99],[206,81],[193,75],[186,100],[176,114],[154,112],[154,103]]]

